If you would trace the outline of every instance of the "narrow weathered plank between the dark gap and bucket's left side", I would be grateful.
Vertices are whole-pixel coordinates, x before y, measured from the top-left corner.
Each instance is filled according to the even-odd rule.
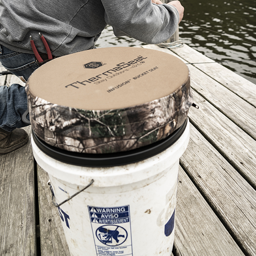
[[[69,256],[58,210],[52,204],[48,174],[37,165],[41,256]]]

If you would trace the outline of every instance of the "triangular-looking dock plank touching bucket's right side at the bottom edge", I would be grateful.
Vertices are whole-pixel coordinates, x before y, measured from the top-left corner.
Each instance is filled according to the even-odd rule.
[[[174,241],[176,256],[244,255],[182,168]]]

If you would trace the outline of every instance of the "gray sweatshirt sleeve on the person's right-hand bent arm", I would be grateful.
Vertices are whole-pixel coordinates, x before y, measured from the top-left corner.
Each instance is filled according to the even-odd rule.
[[[101,0],[105,21],[116,36],[131,36],[146,44],[159,44],[177,29],[179,12],[168,4],[151,0]]]

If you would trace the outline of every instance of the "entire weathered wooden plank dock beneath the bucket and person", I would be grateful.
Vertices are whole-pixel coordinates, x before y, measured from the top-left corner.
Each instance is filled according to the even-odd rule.
[[[256,85],[187,45],[143,47],[188,64],[199,106],[180,159],[173,255],[256,256]],[[0,155],[1,256],[69,256],[47,181],[30,144]]]

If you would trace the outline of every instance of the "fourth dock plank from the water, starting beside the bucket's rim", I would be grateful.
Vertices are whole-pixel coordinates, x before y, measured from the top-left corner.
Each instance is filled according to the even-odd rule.
[[[256,255],[255,189],[193,126],[180,164],[245,254]]]

